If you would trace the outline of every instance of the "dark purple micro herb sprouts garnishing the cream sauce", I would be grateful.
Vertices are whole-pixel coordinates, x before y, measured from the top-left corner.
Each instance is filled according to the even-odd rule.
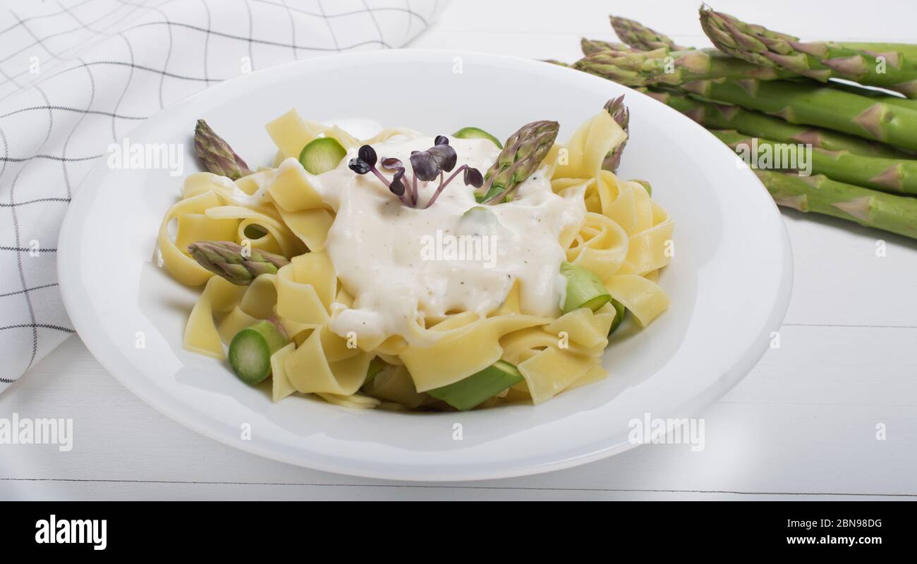
[[[392,194],[398,196],[403,205],[408,207],[417,207],[419,200],[418,181],[432,182],[437,177],[439,178],[436,192],[427,200],[424,209],[436,202],[439,194],[442,194],[449,182],[452,182],[459,173],[462,174],[462,181],[465,182],[466,186],[481,188],[481,184],[484,183],[484,177],[478,169],[472,168],[467,164],[461,165],[458,169],[456,168],[458,155],[456,150],[449,146],[449,139],[445,135],[436,136],[435,145],[430,149],[411,152],[411,158],[409,159],[412,171],[410,181],[406,178],[406,169],[401,160],[391,157],[381,160],[382,170],[393,173],[391,180],[382,175],[381,171],[376,168],[376,162],[378,161],[375,149],[372,149],[369,145],[363,145],[359,148],[357,157],[351,159],[348,163],[348,168],[360,175],[372,172],[376,175],[376,178],[388,186]],[[452,174],[446,177],[447,172],[452,172]]]

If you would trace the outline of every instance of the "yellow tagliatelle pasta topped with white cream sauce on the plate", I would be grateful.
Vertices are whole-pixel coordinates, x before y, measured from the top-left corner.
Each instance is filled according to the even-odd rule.
[[[477,182],[474,167],[502,158],[488,138],[436,138],[423,156],[442,166],[438,178],[399,184],[408,166],[415,179],[423,175],[414,153],[433,144],[414,131],[385,129],[361,141],[295,110],[267,129],[278,149],[274,166],[236,181],[190,175],[162,220],[158,247],[173,278],[203,285],[185,348],[225,359],[247,327],[271,320],[281,328],[286,342],[270,354],[274,402],[307,393],[348,408],[464,409],[462,394],[474,383],[493,387],[475,400],[481,406],[540,404],[607,375],[602,356],[624,309],[646,326],[668,307],[657,280],[674,224],[642,183],[602,169],[626,139],[607,111],[566,145],[547,148],[509,201],[482,204],[489,196],[476,203],[474,189],[458,181],[445,190],[445,177],[455,169],[452,176],[463,171],[464,182]],[[297,160],[316,139],[337,142],[337,166],[313,173]],[[437,152],[441,145],[450,149]],[[378,169],[366,146],[381,153]],[[367,160],[371,173],[360,171]],[[477,262],[422,252],[447,238],[461,249],[456,256]],[[476,246],[481,238],[492,245]],[[238,251],[237,262],[210,257],[226,275],[189,251],[207,241]],[[282,259],[246,264],[259,252]],[[569,305],[578,294],[561,264],[596,281],[595,300]],[[232,275],[249,271],[241,282]]]

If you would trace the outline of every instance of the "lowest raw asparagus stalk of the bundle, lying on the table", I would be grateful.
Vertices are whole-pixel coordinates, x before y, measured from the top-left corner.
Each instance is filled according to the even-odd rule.
[[[875,227],[904,237],[917,238],[917,198],[883,194],[862,186],[796,173],[755,171],[777,205],[840,217],[861,226]]]

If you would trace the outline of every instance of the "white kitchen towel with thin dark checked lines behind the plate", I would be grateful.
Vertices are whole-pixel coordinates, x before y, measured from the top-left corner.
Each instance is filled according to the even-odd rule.
[[[0,390],[73,333],[55,272],[109,143],[243,70],[401,47],[436,0],[0,0]]]

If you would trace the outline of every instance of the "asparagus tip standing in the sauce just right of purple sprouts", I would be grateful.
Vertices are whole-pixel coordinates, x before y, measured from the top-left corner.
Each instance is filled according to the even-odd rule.
[[[511,200],[519,184],[541,166],[559,130],[560,124],[556,121],[535,121],[520,127],[506,139],[497,160],[484,175],[480,189],[480,194],[485,194],[482,201],[497,204]]]

